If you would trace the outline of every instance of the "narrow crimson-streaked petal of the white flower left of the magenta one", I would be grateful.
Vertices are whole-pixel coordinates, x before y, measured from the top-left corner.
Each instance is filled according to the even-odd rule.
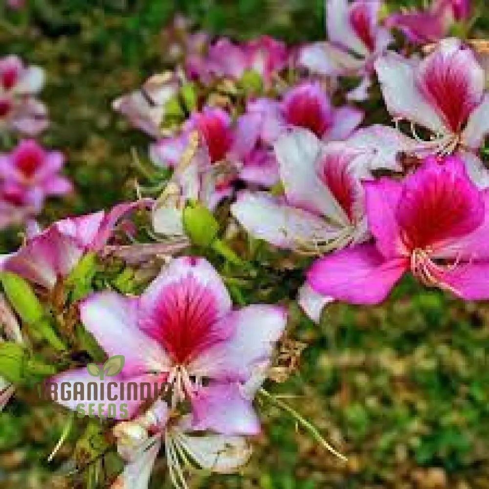
[[[356,181],[349,171],[348,159],[341,155],[327,155],[320,164],[319,177],[331,190],[348,219],[355,219]]]

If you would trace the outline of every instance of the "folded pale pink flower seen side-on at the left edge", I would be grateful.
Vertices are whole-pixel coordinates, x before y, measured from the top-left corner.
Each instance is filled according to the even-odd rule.
[[[110,212],[63,219],[30,236],[15,253],[2,257],[1,269],[17,273],[33,284],[52,289],[89,252],[100,252],[122,216],[141,202],[121,203]]]

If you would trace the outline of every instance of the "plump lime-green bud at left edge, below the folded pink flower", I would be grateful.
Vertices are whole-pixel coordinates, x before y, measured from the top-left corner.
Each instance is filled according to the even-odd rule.
[[[0,281],[8,300],[22,321],[35,323],[43,317],[43,306],[27,281],[10,272],[0,273]]]

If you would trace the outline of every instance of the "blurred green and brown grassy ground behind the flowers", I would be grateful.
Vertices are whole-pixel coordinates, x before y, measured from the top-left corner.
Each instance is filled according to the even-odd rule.
[[[165,67],[160,30],[175,12],[238,39],[324,37],[322,0],[33,0],[16,12],[2,5],[0,55],[45,68],[40,98],[52,124],[41,140],[66,153],[77,189],[73,198],[51,202],[43,221],[133,197],[130,148],[144,150],[148,139],[111,111],[111,101]],[[489,30],[483,10],[475,30],[478,37]],[[3,251],[18,241],[15,231],[3,233]],[[463,303],[406,279],[381,307],[333,305],[320,327],[300,319],[292,335],[309,346],[299,372],[277,390],[296,395],[289,403],[349,461],[267,408],[243,476],[194,477],[191,487],[489,488],[487,304]],[[46,461],[66,411],[30,396],[32,403],[21,393],[22,401],[0,415],[0,488],[69,488]],[[69,455],[72,441],[61,455]],[[161,460],[151,487],[165,484]]]

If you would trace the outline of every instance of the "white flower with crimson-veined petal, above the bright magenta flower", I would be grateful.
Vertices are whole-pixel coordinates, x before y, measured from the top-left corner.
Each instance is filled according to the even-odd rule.
[[[420,147],[442,155],[458,150],[470,174],[484,173],[475,152],[489,133],[489,95],[470,49],[446,39],[421,62],[389,53],[376,70],[389,112],[433,133]]]

